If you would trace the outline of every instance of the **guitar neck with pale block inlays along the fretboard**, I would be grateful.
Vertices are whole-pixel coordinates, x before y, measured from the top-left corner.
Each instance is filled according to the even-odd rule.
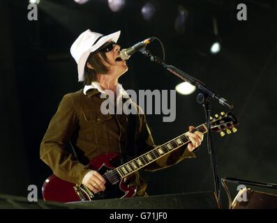
[[[203,134],[207,132],[207,125],[202,124],[197,126],[192,131],[189,132],[202,132]],[[161,146],[157,146],[156,148],[152,149],[151,151],[144,153],[143,155],[140,155],[139,157],[136,157],[133,160],[130,160],[129,162],[126,162],[125,164],[121,165],[120,167],[117,167],[117,172],[121,176],[121,178],[124,178],[130,174],[135,173],[135,171],[138,171],[139,169],[142,169],[146,167],[148,164],[151,164],[151,162],[155,162],[156,160],[160,159],[161,157],[172,153],[172,151],[177,150],[177,148],[184,146],[190,142],[190,139],[186,136],[185,132],[184,134],[181,134],[179,137],[176,137],[170,141],[167,141],[165,144]]]

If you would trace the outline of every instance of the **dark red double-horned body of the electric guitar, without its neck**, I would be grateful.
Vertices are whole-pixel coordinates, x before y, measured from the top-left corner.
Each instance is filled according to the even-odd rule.
[[[114,167],[112,161],[119,158],[118,153],[105,153],[93,158],[89,162],[89,169],[98,171],[102,176]],[[113,199],[133,197],[137,190],[135,186],[126,184],[126,178],[121,178],[117,183],[110,183],[106,180],[106,190],[94,194],[87,190],[83,185],[75,185],[66,180],[61,180],[54,174],[45,180],[43,184],[43,199],[45,201],[72,202],[72,201],[91,201],[96,199]]]

